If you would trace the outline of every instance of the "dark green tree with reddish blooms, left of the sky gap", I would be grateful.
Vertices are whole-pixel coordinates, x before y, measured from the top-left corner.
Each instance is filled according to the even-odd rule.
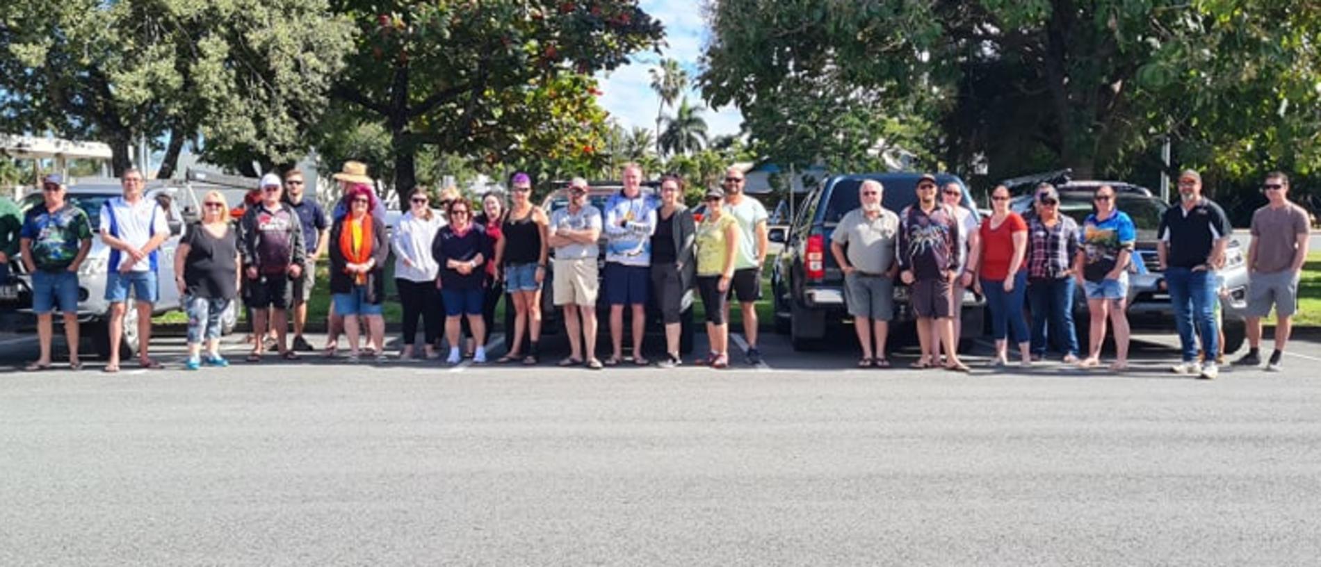
[[[419,147],[503,152],[528,130],[524,110],[513,104],[539,96],[528,91],[560,75],[614,69],[662,37],[660,24],[635,0],[333,0],[333,7],[361,32],[333,96],[390,132],[391,185],[400,192],[416,182]]]

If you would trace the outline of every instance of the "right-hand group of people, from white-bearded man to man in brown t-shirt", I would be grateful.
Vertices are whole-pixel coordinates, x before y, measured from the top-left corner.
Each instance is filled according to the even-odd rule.
[[[1094,211],[1082,226],[1059,211],[1059,193],[1050,184],[1036,188],[1034,214],[1026,219],[1009,209],[1009,189],[996,186],[991,192],[991,214],[980,225],[966,221],[971,211],[959,205],[962,185],[939,188],[937,178],[927,174],[918,180],[915,190],[917,202],[896,214],[881,206],[881,184],[864,181],[859,186],[860,208],[847,213],[831,237],[831,251],[844,274],[845,301],[863,350],[859,366],[889,366],[885,342],[888,322],[894,316],[893,287],[898,276],[909,287],[918,325],[921,357],[913,367],[968,371],[956,352],[964,288],[985,297],[995,366],[1008,365],[1011,338],[1022,366],[1042,359],[1052,342],[1065,363],[1099,366],[1108,324],[1116,348],[1108,367],[1112,371],[1128,367],[1125,309],[1129,274],[1137,271],[1136,227],[1118,209],[1112,186],[1096,188]],[[942,197],[937,197],[938,190]],[[1232,227],[1223,209],[1202,196],[1198,172],[1185,170],[1178,190],[1180,202],[1165,210],[1157,230],[1160,270],[1182,350],[1182,362],[1173,371],[1215,378],[1221,358],[1217,271],[1225,267]],[[1252,217],[1252,243],[1246,260],[1250,350],[1235,363],[1260,363],[1260,320],[1273,307],[1279,324],[1267,369],[1279,370],[1291,316],[1297,309],[1308,219],[1300,206],[1288,201],[1284,173],[1269,173],[1262,192],[1269,204]],[[1091,319],[1086,352],[1081,350],[1073,321],[1074,293],[1079,289]],[[1025,307],[1030,319],[1024,315]]]

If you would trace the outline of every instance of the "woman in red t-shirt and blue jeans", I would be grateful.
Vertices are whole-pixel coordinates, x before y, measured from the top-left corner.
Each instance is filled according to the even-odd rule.
[[[1022,266],[1028,250],[1028,223],[1009,210],[1009,188],[996,185],[991,192],[991,215],[982,221],[980,246],[972,250],[964,284],[975,284],[987,297],[991,309],[991,336],[995,338],[995,365],[1008,361],[1009,328],[1018,342],[1022,365],[1032,365],[1028,321],[1022,319],[1022,300],[1028,288],[1028,271]]]

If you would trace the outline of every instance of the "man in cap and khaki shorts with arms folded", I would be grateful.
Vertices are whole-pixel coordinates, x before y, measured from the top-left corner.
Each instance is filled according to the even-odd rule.
[[[569,357],[560,361],[560,366],[585,361],[587,367],[600,370],[601,361],[596,358],[596,295],[600,288],[596,263],[601,211],[587,202],[587,180],[575,177],[565,192],[569,205],[551,213],[547,227],[548,243],[555,248],[552,293],[555,304],[564,308],[564,328],[569,336]]]

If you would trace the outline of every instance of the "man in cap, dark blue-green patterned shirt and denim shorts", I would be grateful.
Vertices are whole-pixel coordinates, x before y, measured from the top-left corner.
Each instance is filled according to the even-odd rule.
[[[78,267],[91,250],[91,225],[82,209],[65,202],[63,177],[46,176],[41,194],[45,201],[28,211],[21,234],[22,262],[32,274],[32,311],[37,313],[41,342],[41,356],[28,365],[28,370],[50,367],[55,307],[65,317],[69,366],[78,370],[82,367],[78,361]]]

